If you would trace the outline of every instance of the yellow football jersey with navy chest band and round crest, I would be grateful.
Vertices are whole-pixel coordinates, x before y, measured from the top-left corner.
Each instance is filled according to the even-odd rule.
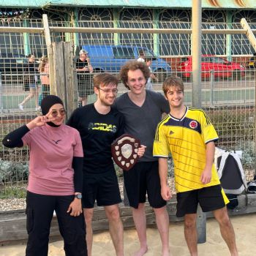
[[[174,163],[176,191],[186,192],[220,184],[212,165],[211,182],[203,184],[200,176],[206,165],[206,143],[218,140],[210,118],[203,110],[187,108],[180,119],[170,114],[158,124],[154,138],[154,157],[168,157]]]

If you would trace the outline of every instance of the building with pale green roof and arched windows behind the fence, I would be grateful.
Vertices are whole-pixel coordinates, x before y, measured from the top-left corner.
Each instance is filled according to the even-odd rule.
[[[191,29],[192,1],[2,0],[0,26],[42,26],[40,20],[43,14],[48,15],[49,26],[182,30]],[[202,1],[202,29],[241,29],[241,18],[246,18],[251,28],[256,29],[256,1]],[[68,41],[70,34],[59,34],[55,39]],[[229,40],[233,40],[235,46],[228,50],[228,55],[252,54],[254,50],[249,44],[243,43],[244,39],[244,35],[232,35]],[[0,38],[0,50],[6,40]],[[33,50],[33,44],[39,43],[38,40],[31,40],[33,42],[29,43],[30,47],[25,49],[25,53]],[[188,34],[120,34],[116,37],[116,34],[78,33],[73,40],[75,45],[140,43],[160,56],[191,54]],[[203,36],[202,52],[226,55],[225,47],[216,47],[216,42],[220,41],[222,45],[227,43],[225,35]]]

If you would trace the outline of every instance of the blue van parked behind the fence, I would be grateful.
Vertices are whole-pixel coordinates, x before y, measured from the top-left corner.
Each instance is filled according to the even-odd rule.
[[[151,69],[159,81],[165,80],[171,72],[170,65],[148,48],[132,45],[83,45],[82,48],[89,52],[94,72],[119,72],[125,62],[139,58],[139,50],[152,59]]]

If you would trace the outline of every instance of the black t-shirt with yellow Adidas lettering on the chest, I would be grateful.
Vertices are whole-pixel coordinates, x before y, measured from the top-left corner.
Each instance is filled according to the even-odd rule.
[[[67,125],[78,129],[83,143],[83,170],[96,174],[113,171],[111,143],[124,134],[124,116],[110,109],[102,115],[94,104],[76,109]]]

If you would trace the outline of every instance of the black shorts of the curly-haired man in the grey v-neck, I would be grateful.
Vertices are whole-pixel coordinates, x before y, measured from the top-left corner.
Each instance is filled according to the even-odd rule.
[[[124,170],[124,185],[129,206],[138,208],[139,203],[148,202],[153,208],[161,208],[166,201],[161,196],[158,162],[138,162],[130,170]]]

